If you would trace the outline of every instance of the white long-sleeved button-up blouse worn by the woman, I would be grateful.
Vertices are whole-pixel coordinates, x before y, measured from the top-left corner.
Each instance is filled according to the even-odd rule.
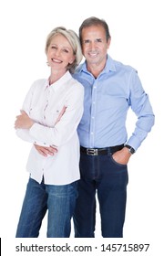
[[[58,152],[47,157],[32,146],[26,165],[30,176],[45,184],[67,185],[79,179],[77,125],[83,114],[84,88],[67,73],[49,86],[49,80],[36,80],[26,95],[23,110],[35,121],[17,135],[32,144],[55,146]]]

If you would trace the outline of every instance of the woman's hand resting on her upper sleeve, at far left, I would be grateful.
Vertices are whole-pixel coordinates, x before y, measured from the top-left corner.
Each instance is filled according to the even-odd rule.
[[[21,114],[16,116],[15,129],[30,129],[33,124],[33,120],[24,111],[21,111]]]

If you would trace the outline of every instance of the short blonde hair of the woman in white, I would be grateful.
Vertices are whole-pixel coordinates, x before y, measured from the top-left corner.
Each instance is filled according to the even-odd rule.
[[[71,48],[73,49],[73,53],[75,55],[75,60],[73,63],[68,64],[67,70],[69,70],[70,73],[74,73],[78,64],[83,59],[81,46],[80,46],[79,38],[77,37],[77,33],[71,29],[67,29],[66,27],[54,28],[46,37],[46,48],[45,48],[46,53],[47,53],[47,49],[51,43],[52,38],[55,37],[56,34],[61,34],[64,37],[66,37]]]

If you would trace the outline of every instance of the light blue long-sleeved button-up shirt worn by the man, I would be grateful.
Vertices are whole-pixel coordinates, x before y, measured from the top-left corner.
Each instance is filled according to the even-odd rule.
[[[85,108],[77,129],[80,144],[101,148],[127,143],[137,150],[154,125],[149,96],[137,70],[108,56],[106,67],[97,79],[87,70],[86,61],[73,76],[85,88]],[[128,138],[129,107],[135,112],[137,122]]]

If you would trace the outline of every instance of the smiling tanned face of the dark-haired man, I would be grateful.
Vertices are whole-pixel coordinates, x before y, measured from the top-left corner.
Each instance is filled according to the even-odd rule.
[[[110,39],[102,26],[91,26],[82,29],[82,51],[87,65],[105,65]]]

